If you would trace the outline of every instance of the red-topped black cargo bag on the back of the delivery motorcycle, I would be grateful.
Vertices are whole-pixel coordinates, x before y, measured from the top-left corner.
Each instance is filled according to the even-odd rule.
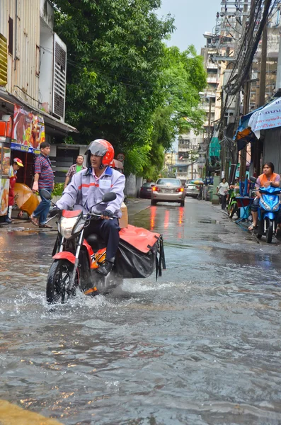
[[[160,259],[157,253],[160,251]],[[115,266],[123,278],[147,278],[156,267],[156,276],[161,265],[165,266],[163,239],[159,233],[149,232],[142,227],[128,225],[120,230]]]

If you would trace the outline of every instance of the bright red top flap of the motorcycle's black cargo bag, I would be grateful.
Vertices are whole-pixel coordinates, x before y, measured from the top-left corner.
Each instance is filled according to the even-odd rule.
[[[121,229],[119,234],[120,239],[133,245],[134,248],[144,252],[144,254],[149,252],[151,246],[154,246],[155,242],[157,242],[160,237],[159,233],[149,232],[149,230],[143,229],[142,227],[134,227],[131,225],[128,225],[125,229]]]

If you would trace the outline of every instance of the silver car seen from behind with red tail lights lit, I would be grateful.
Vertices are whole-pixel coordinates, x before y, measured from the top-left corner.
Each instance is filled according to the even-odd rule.
[[[185,189],[179,179],[158,179],[151,191],[151,205],[157,202],[177,202],[185,206]]]

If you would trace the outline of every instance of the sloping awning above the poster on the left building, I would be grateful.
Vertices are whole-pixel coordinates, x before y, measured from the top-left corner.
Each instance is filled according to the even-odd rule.
[[[18,98],[16,96],[13,96],[13,94],[8,93],[4,87],[0,87],[0,100],[4,101],[6,103],[6,108],[10,111],[11,115],[13,115],[13,106],[15,103],[21,106],[25,106],[26,108],[30,109],[30,111],[34,111],[44,117],[45,121],[45,132],[50,135],[67,135],[69,132],[76,132],[79,131],[72,127],[71,125],[67,123],[62,123],[61,120],[58,118],[53,117],[52,115],[45,113],[44,111],[41,111],[39,108],[35,108],[35,106],[31,106],[29,103],[21,100],[21,98]]]

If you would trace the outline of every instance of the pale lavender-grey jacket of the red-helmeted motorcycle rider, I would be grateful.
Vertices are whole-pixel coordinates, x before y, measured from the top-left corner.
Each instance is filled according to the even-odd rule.
[[[103,175],[96,179],[91,168],[74,174],[71,183],[64,189],[62,198],[57,201],[57,207],[61,210],[83,210],[83,212],[96,212],[101,214],[104,210],[111,211],[114,217],[122,216],[121,204],[124,200],[125,176],[119,171],[108,166]],[[116,199],[101,203],[103,195],[115,192]],[[96,205],[93,209],[93,205]]]

